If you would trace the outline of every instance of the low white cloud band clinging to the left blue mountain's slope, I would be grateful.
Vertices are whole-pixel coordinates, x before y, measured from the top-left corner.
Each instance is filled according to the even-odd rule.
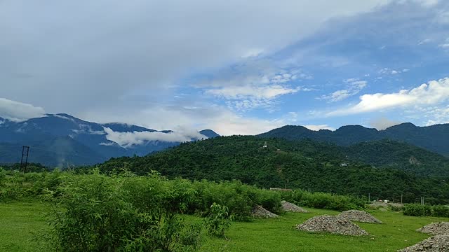
[[[199,132],[179,129],[176,132],[114,132],[108,127],[103,127],[106,139],[114,141],[123,148],[145,144],[147,141],[185,142],[192,139],[207,139]]]

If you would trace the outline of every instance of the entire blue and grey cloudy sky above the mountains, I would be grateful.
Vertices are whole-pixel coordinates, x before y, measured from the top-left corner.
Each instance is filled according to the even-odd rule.
[[[258,134],[449,123],[444,0],[0,1],[0,117]]]

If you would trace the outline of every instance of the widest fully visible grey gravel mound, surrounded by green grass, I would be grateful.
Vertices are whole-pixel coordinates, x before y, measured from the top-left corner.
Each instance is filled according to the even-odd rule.
[[[328,215],[309,218],[296,228],[307,232],[330,232],[338,235],[369,235],[351,221]]]

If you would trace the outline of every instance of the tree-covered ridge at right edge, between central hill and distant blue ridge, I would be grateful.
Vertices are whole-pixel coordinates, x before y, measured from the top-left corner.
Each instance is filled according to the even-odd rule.
[[[344,148],[347,158],[375,167],[389,167],[419,176],[449,176],[449,159],[411,144],[379,140]]]

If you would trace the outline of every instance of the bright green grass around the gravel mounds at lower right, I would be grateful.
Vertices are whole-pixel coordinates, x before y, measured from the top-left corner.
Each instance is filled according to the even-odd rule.
[[[201,251],[397,251],[429,237],[417,228],[445,218],[410,217],[389,211],[373,211],[384,224],[357,223],[369,237],[314,234],[295,230],[312,216],[338,214],[337,211],[309,209],[309,214],[288,213],[279,219],[233,223],[228,239],[210,238]]]

